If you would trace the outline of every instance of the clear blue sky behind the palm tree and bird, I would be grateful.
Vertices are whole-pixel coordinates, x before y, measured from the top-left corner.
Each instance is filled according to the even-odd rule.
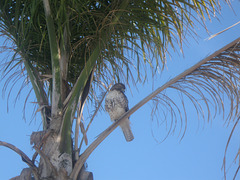
[[[206,23],[211,34],[217,33],[240,20],[240,2],[233,1],[232,7],[235,14],[227,5],[222,4],[222,13],[218,16],[218,20],[212,19],[212,22]],[[137,85],[138,90],[134,87],[132,93],[129,89],[126,90],[130,108],[150,94],[153,89],[163,85],[167,80],[238,38],[240,24],[209,41],[205,40],[209,35],[203,31],[202,27],[196,29],[199,34],[198,42],[193,38],[188,38],[188,43],[183,48],[184,57],[178,49],[171,54],[172,58],[168,59],[167,62],[168,68],[154,79],[153,88],[152,79],[149,78],[145,85]],[[4,55],[1,55],[0,58],[3,59]],[[0,82],[0,89],[3,85],[4,82]],[[9,99],[9,112],[7,112],[7,96],[0,100],[0,140],[17,146],[31,158],[34,151],[29,143],[29,138],[32,131],[41,129],[40,119],[37,116],[37,120],[31,121],[33,112],[33,103],[31,102],[34,102],[34,97],[31,96],[26,108],[27,119],[23,120],[22,108],[30,87],[22,92],[21,98],[14,106],[14,97],[19,87],[18,83],[14,86],[12,96]],[[188,111],[191,111],[192,105],[187,104],[186,106]],[[159,129],[156,127],[156,118],[152,121],[151,107],[151,103],[149,103],[131,116],[134,141],[127,143],[118,128],[93,152],[87,164],[88,170],[94,174],[94,179],[223,179],[221,167],[224,150],[233,123],[230,123],[229,126],[224,124],[225,121],[221,114],[210,123],[204,122],[202,119],[198,120],[197,114],[192,111],[188,116],[186,135],[181,141],[178,133],[175,133],[163,143],[158,143],[154,140],[152,131],[154,131],[155,138],[159,140],[166,135],[166,132],[163,131],[162,126]],[[85,116],[85,118],[88,117],[87,114]],[[158,118],[161,119],[163,116]],[[99,113],[89,130],[89,142],[92,142],[110,124],[109,116],[104,111]],[[231,163],[239,148],[239,138],[237,137],[239,137],[239,133],[234,135],[228,151],[227,165],[231,166],[228,170],[229,179],[232,179],[236,170],[236,165],[231,165]],[[27,167],[20,156],[5,147],[0,147],[0,159],[1,180],[19,175],[22,168]]]

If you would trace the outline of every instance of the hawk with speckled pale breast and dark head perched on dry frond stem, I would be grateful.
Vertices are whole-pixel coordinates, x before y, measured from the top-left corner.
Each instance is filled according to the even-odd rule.
[[[106,95],[105,110],[108,112],[112,122],[118,120],[124,113],[129,110],[128,99],[124,94],[125,89],[126,88],[124,84],[116,83],[111,87],[109,93]],[[129,118],[122,120],[119,126],[123,131],[126,141],[132,141],[134,139],[134,136],[130,127]]]

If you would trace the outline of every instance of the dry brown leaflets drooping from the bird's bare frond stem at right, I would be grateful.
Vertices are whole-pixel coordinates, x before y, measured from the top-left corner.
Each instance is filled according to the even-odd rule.
[[[223,112],[223,118],[225,118],[227,123],[230,123],[230,120],[236,119],[239,115],[238,86],[240,72],[239,60],[232,58],[231,54],[233,54],[233,52],[229,50],[222,52],[195,69],[192,73],[169,86],[169,88],[180,92],[181,96],[184,96],[185,101],[189,99],[189,101],[187,101],[188,106],[183,105],[181,110],[179,110],[180,107],[176,108],[176,104],[178,104],[175,102],[176,93],[171,91],[171,93],[175,95],[169,100],[171,95],[166,94],[168,89],[166,89],[166,92],[164,91],[157,96],[158,101],[155,104],[158,106],[162,106],[163,103],[167,105],[162,111],[168,110],[169,108],[171,111],[175,111],[172,121],[174,121],[174,119],[176,120],[176,118],[182,121],[182,118],[185,117],[182,115],[182,112],[187,111],[190,103],[192,103],[199,119],[207,119],[210,121],[218,112]],[[224,113],[227,113],[226,117]],[[179,114],[179,116],[176,117],[176,114]],[[177,123],[177,121],[175,122]],[[174,122],[172,124],[172,126],[176,127]],[[171,129],[172,126],[169,127],[169,131],[175,129]],[[184,132],[185,128],[183,134]]]

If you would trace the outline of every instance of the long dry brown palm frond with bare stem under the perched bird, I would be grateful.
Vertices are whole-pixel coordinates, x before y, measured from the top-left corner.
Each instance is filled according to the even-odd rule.
[[[224,110],[224,104],[222,101],[223,93],[227,95],[228,100],[230,101],[230,110],[227,116],[227,119],[235,120],[239,116],[239,72],[240,72],[240,38],[231,42],[230,44],[224,46],[220,50],[211,54],[207,58],[201,60],[199,63],[190,67],[186,71],[182,72],[180,75],[168,81],[166,84],[157,88],[150,95],[141,100],[138,104],[132,107],[128,112],[123,114],[114,124],[109,126],[105,131],[103,131],[98,138],[88,146],[88,148],[81,154],[78,159],[76,166],[74,167],[70,177],[76,178],[81,167],[85,163],[86,159],[94,151],[94,149],[114,130],[118,127],[122,120],[126,119],[139,108],[145,105],[150,100],[153,100],[158,96],[160,100],[167,104],[167,107],[170,107],[172,114],[180,114],[178,106],[174,103],[173,100],[169,99],[164,95],[163,91],[167,91],[169,88],[176,89],[181,93],[185,94],[193,103],[197,112],[203,113],[198,109],[202,109],[201,105],[198,102],[198,99],[193,97],[190,92],[194,91],[202,99],[203,103],[208,107],[211,106],[211,102],[215,103],[216,108]],[[208,96],[212,98],[212,101],[208,101]],[[160,102],[158,99],[158,102]],[[172,106],[177,107],[177,112],[174,111]],[[215,110],[216,110],[215,108]],[[214,109],[214,108],[213,108]],[[185,110],[185,109],[184,109]],[[208,113],[211,113],[210,110]],[[203,115],[204,116],[204,115]],[[176,116],[175,116],[176,117]],[[175,123],[177,121],[174,121]],[[235,126],[239,122],[239,119],[236,121]],[[171,127],[173,123],[171,123]],[[170,130],[174,131],[174,128]],[[235,127],[233,128],[234,131]],[[232,132],[233,133],[233,132]],[[230,135],[230,139],[232,136]],[[229,139],[229,141],[230,141]],[[229,144],[228,141],[228,144]],[[227,148],[227,147],[226,147]],[[227,151],[227,150],[226,150]],[[225,153],[226,156],[226,153]],[[225,161],[224,161],[225,163]],[[238,171],[238,170],[237,170]],[[236,175],[235,175],[236,176]]]

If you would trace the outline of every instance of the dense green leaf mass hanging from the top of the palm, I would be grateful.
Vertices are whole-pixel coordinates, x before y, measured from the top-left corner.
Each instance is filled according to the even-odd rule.
[[[63,41],[66,27],[70,36],[68,82],[73,87],[95,44],[104,41],[104,37],[108,41],[104,42],[99,58],[99,71],[109,63],[111,69],[124,67],[130,72],[132,66],[128,62],[137,67],[139,74],[141,64],[153,64],[153,71],[156,67],[162,69],[168,44],[174,48],[176,43],[181,45],[183,32],[187,29],[191,32],[194,27],[193,14],[204,19],[205,13],[215,12],[218,1],[129,1],[125,9],[121,9],[120,1],[51,1],[50,7],[57,41]],[[121,17],[113,21],[119,12]],[[1,32],[14,41],[18,51],[40,74],[51,72],[41,1],[2,1]],[[127,53],[134,54],[136,60],[126,56]],[[154,61],[148,56],[154,56]],[[116,71],[113,76],[118,78],[121,74]]]

